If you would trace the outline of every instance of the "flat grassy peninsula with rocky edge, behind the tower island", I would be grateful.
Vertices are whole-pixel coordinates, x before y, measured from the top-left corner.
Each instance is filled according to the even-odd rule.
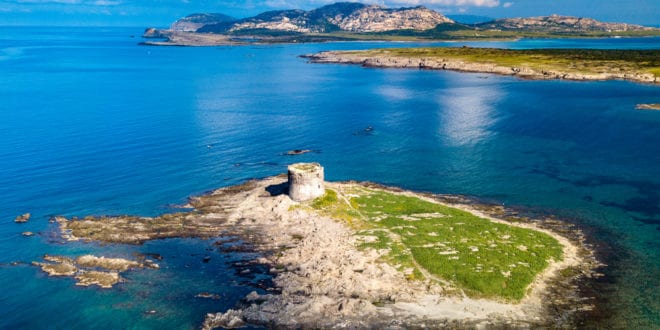
[[[660,50],[429,47],[327,51],[302,57],[313,63],[494,73],[528,79],[660,83]]]

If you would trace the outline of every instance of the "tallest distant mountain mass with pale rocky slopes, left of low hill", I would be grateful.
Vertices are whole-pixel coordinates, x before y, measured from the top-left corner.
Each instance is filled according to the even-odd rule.
[[[453,23],[442,14],[423,6],[390,9],[355,2],[338,2],[304,11],[277,10],[240,20],[200,17],[191,15],[173,24],[180,31],[232,33],[240,31],[271,30],[300,33],[335,31],[383,32],[391,30],[428,30],[438,24]],[[217,15],[217,14],[214,14]],[[193,17],[194,16],[194,17]],[[224,15],[223,15],[224,16]]]

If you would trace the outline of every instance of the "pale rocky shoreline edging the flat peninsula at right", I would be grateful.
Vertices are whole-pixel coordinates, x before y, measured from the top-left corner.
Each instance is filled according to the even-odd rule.
[[[607,72],[576,73],[558,70],[538,70],[527,66],[503,66],[492,63],[470,61],[466,59],[405,57],[396,55],[371,55],[366,52],[325,51],[316,54],[301,55],[311,63],[357,64],[373,68],[409,68],[429,70],[451,70],[460,72],[491,73],[516,76],[523,79],[561,79],[574,81],[628,80],[633,82],[660,84],[660,79],[650,73]]]

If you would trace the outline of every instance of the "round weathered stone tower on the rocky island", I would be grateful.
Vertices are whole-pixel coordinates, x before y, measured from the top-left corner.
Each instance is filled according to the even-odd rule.
[[[308,201],[325,194],[323,166],[319,163],[289,165],[289,197],[296,202]]]

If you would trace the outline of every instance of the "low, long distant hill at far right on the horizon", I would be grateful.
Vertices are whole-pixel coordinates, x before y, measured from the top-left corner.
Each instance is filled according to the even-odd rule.
[[[626,24],[605,23],[592,18],[573,16],[539,16],[527,18],[504,18],[491,22],[476,24],[482,30],[502,31],[538,31],[547,33],[575,32],[620,32],[620,31],[650,31],[654,28]]]

